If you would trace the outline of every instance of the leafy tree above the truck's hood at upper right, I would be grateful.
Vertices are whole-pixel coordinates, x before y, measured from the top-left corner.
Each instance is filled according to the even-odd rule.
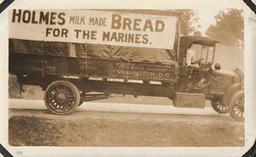
[[[243,44],[242,10],[230,8],[214,16],[215,25],[210,25],[206,35],[232,46]]]

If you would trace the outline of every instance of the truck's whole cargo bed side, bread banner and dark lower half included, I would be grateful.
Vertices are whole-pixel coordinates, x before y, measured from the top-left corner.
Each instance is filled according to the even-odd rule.
[[[177,20],[166,11],[13,9],[9,72],[176,81]]]

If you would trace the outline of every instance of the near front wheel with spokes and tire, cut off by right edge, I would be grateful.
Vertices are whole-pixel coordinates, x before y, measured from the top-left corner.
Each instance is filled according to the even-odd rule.
[[[230,115],[236,121],[244,121],[244,92],[234,93],[230,100]]]

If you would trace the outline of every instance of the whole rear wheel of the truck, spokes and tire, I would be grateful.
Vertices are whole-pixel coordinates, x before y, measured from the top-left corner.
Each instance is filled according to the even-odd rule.
[[[47,109],[57,115],[70,115],[79,102],[79,89],[70,81],[54,81],[44,92]]]

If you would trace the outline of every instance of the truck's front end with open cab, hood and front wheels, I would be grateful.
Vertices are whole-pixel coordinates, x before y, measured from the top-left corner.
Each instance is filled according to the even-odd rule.
[[[234,99],[243,99],[243,73],[239,69],[224,72],[221,64],[213,65],[217,43],[205,36],[180,37],[177,91],[203,93],[212,101],[212,109],[219,114],[230,113],[236,121],[244,121],[243,100],[234,104]],[[186,63],[189,48],[195,51],[191,65]]]

